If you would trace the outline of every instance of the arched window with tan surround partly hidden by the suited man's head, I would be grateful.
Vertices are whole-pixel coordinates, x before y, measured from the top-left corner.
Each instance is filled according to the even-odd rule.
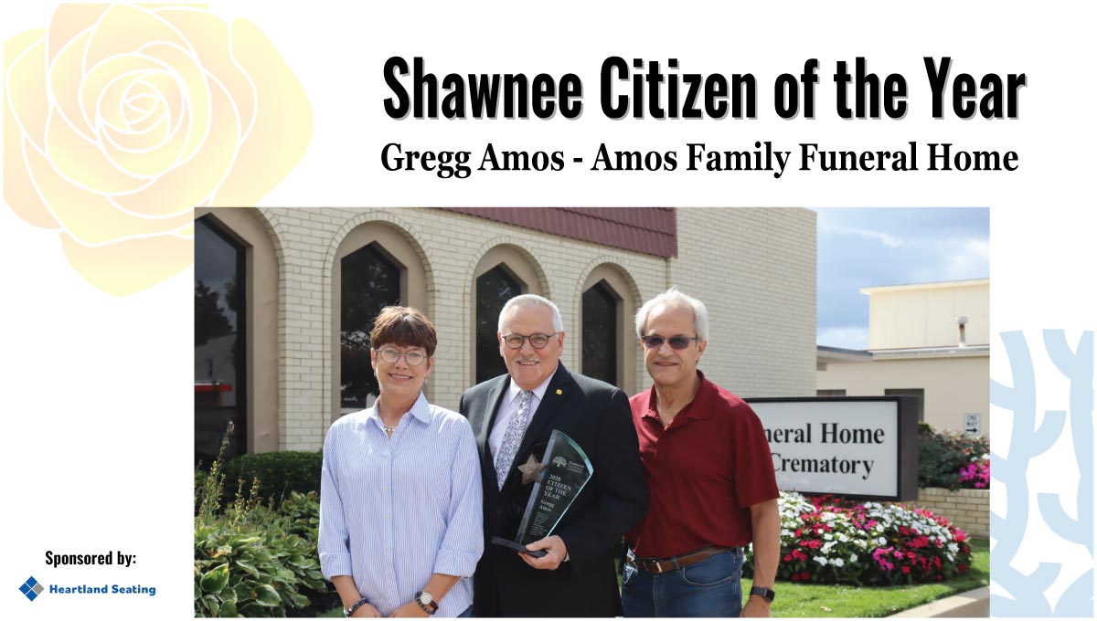
[[[499,356],[499,312],[521,294],[547,296],[543,273],[533,258],[514,245],[501,244],[484,253],[473,271],[472,377],[475,384],[507,372]],[[472,386],[472,384],[470,384]]]

